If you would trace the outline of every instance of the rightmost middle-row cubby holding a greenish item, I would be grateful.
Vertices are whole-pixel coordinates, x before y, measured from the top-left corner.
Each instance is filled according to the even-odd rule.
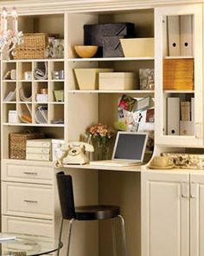
[[[64,102],[64,82],[49,82],[49,102]]]

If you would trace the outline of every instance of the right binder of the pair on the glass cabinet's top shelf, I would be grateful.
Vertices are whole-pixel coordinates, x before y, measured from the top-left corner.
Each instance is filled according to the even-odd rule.
[[[181,55],[193,56],[193,18],[191,15],[180,16]]]

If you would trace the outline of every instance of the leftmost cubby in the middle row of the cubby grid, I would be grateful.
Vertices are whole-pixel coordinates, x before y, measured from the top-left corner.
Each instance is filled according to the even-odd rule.
[[[16,102],[16,82],[2,82],[2,101]]]

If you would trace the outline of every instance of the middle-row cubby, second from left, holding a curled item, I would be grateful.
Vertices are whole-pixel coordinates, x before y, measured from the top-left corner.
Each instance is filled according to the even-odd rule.
[[[17,102],[31,102],[32,95],[32,82],[17,83]]]

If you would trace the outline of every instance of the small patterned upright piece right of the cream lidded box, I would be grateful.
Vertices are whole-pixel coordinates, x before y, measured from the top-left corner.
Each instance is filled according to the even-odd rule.
[[[155,89],[155,70],[139,69],[139,89],[154,90]]]

